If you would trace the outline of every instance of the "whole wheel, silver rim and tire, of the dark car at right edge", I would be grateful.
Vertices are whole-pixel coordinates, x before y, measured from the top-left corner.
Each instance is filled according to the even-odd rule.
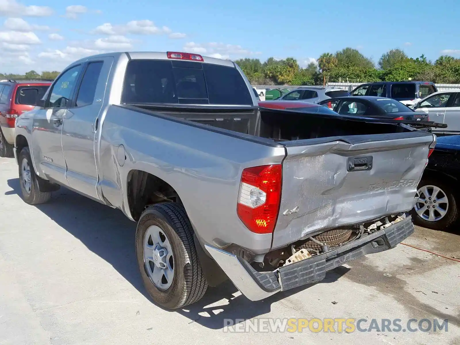
[[[448,179],[423,178],[417,193],[417,202],[411,210],[414,224],[433,230],[446,230],[457,223],[457,192]]]

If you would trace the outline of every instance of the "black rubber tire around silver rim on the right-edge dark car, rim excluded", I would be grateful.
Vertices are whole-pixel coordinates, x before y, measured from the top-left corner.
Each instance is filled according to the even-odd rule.
[[[424,194],[420,194],[420,192],[423,193],[424,187],[425,186],[434,186],[440,190],[439,193],[437,193],[437,196],[429,196],[432,197],[431,200],[429,200],[429,197],[426,197]],[[412,219],[414,221],[414,224],[422,226],[424,228],[428,229],[433,229],[433,230],[447,230],[457,224],[459,220],[459,209],[457,205],[457,200],[458,200],[458,191],[454,189],[454,183],[451,182],[449,178],[445,178],[442,175],[440,175],[440,178],[434,178],[434,177],[427,177],[427,178],[422,178],[420,181],[420,184],[418,186],[417,191],[419,192],[420,198],[418,201],[422,201],[424,199],[428,199],[427,203],[425,202],[417,202],[415,204],[415,207],[410,211],[410,214],[412,216]],[[427,191],[428,194],[434,193],[434,190],[432,188],[428,188]],[[439,203],[438,200],[439,198],[444,194],[446,200],[448,203]],[[436,199],[438,197],[438,200]],[[436,200],[436,202],[434,202]],[[423,217],[419,214],[423,210],[423,205],[426,205],[427,207],[430,206],[430,209],[433,210],[433,206],[437,207],[433,211],[427,210],[426,213],[423,213]],[[445,214],[443,215],[442,218],[435,219],[435,220],[429,220],[427,219],[427,215],[430,215],[431,212],[432,214],[436,217],[439,216],[441,213],[439,210],[446,210]]]

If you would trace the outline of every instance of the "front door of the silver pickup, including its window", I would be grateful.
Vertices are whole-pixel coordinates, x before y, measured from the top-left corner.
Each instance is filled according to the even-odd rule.
[[[72,102],[75,86],[81,73],[81,64],[69,67],[46,93],[43,109],[32,110],[32,155],[39,176],[68,185],[65,178],[65,160],[61,146],[61,132],[67,107]]]

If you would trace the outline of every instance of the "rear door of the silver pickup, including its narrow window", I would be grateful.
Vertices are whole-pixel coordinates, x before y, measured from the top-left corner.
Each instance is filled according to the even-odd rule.
[[[96,190],[95,147],[98,145],[95,145],[95,133],[112,63],[113,57],[85,63],[75,102],[65,114],[62,129],[62,150],[67,164],[65,175],[69,186],[95,200],[100,200]]]

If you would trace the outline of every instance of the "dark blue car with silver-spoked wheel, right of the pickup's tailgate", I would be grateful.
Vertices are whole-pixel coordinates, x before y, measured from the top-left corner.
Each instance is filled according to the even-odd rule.
[[[458,226],[460,208],[460,135],[437,138],[417,187],[411,211],[414,224],[434,230]]]

